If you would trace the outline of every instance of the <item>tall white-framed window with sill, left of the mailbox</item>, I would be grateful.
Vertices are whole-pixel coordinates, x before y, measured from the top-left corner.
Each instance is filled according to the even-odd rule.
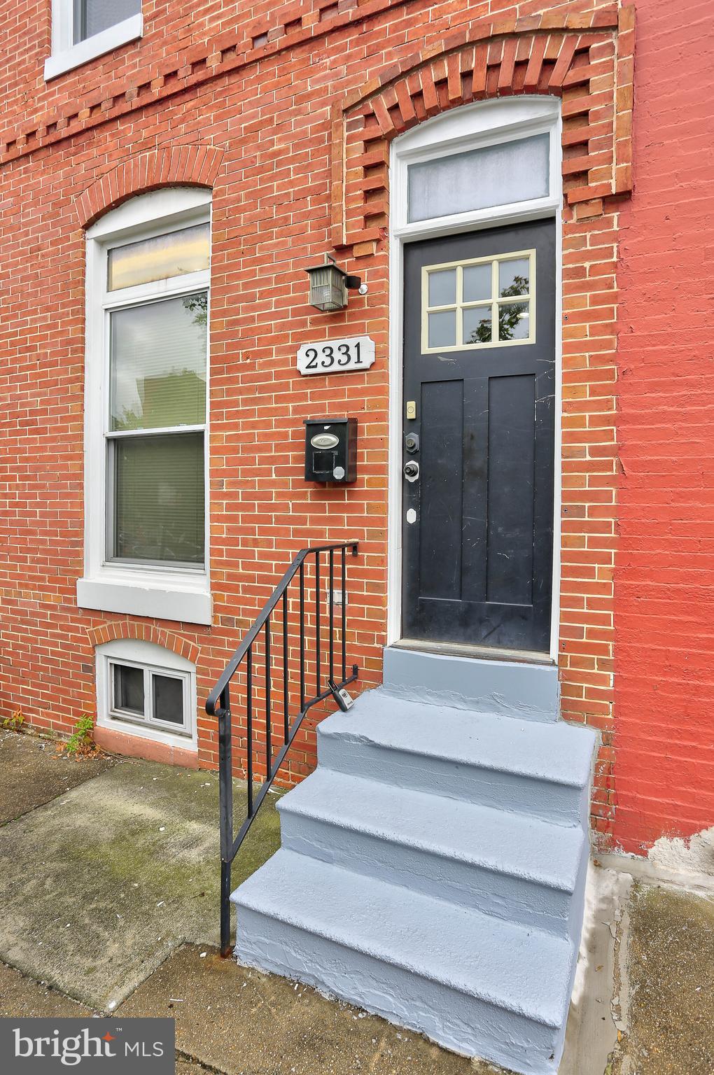
[[[211,622],[210,195],[142,195],[87,232],[83,607]]]

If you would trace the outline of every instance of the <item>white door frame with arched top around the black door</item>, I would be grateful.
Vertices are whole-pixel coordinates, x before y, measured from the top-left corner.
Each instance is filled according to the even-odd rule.
[[[551,658],[557,663],[560,613],[560,501],[562,414],[562,176],[560,101],[555,97],[509,97],[465,104],[427,119],[395,139],[389,159],[389,463],[387,534],[387,645],[401,637],[402,589],[402,303],[404,245],[419,239],[554,217],[556,220],[556,388],[553,520],[553,611]],[[545,198],[475,210],[410,224],[409,164],[532,134],[551,138],[549,189]],[[496,650],[494,651],[496,656]]]

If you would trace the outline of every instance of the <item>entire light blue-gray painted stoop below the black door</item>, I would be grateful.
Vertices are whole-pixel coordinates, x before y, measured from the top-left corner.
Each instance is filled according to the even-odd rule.
[[[317,770],[280,801],[281,850],[232,897],[235,951],[457,1052],[554,1072],[596,737],[556,719],[555,669],[534,665],[529,693],[527,665],[499,664],[387,650],[384,687],[318,726]]]

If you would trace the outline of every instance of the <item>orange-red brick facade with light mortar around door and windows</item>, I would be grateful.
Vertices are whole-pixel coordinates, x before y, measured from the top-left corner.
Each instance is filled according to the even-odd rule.
[[[2,515],[2,713],[65,732],[92,712],[94,645],[162,637],[198,655],[200,707],[241,633],[304,544],[357,538],[351,657],[381,676],[386,620],[389,140],[462,101],[563,101],[562,712],[602,730],[594,820],[612,802],[616,521],[615,331],[627,203],[632,9],[606,3],[305,3],[235,12],[145,3],[146,35],[44,86],[48,3],[3,0],[0,131],[8,452]],[[22,17],[18,15],[22,9]],[[25,33],[28,25],[31,34]],[[22,41],[17,53],[14,45]],[[617,42],[617,45],[615,44]],[[4,64],[4,67],[3,67]],[[188,146],[192,146],[188,150]],[[184,147],[175,155],[176,147]],[[206,178],[208,148],[219,150]],[[174,171],[161,161],[174,150]],[[346,166],[345,163],[346,162]],[[169,166],[167,166],[169,167]],[[130,190],[213,189],[211,559],[214,626],[77,610],[83,570],[84,226]],[[128,186],[127,186],[128,184]],[[337,246],[367,298],[320,315],[305,266]],[[329,326],[369,333],[367,374],[301,378],[295,353]],[[360,420],[359,479],[302,481],[302,419]],[[237,754],[240,761],[240,735]],[[286,779],[314,763],[314,721]]]

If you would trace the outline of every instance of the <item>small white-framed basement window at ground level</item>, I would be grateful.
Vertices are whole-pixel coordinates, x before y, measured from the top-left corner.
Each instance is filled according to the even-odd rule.
[[[190,749],[196,743],[196,669],[152,642],[97,646],[97,722]]]

